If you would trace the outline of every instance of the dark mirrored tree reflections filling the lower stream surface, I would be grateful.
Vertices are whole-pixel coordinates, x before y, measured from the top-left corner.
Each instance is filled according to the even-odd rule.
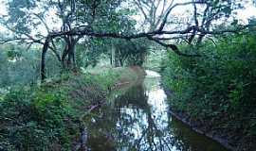
[[[166,112],[155,113],[148,99],[148,92],[138,84],[120,95],[114,108],[104,106],[95,112],[95,122],[87,123],[88,146],[92,150],[199,151],[201,143],[195,143],[197,148],[192,146],[192,140],[198,139],[196,134],[191,136],[191,130],[169,121],[172,118],[166,117]]]

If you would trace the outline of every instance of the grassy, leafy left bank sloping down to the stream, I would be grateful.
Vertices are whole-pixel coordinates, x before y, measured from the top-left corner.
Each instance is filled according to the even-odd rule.
[[[104,104],[120,82],[138,78],[131,68],[64,75],[46,84],[0,93],[0,150],[71,150],[81,116]]]

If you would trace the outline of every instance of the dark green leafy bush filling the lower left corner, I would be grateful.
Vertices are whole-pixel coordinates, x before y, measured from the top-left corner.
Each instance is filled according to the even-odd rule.
[[[60,92],[10,91],[0,102],[0,146],[6,150],[51,150],[70,147],[70,107]],[[14,149],[15,148],[15,149]]]

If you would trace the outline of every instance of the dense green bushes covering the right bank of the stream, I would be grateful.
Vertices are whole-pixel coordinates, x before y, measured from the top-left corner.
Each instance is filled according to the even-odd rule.
[[[163,62],[163,84],[172,91],[172,110],[239,151],[256,150],[255,40],[255,35],[244,34],[183,46],[183,51],[203,56],[169,54]]]

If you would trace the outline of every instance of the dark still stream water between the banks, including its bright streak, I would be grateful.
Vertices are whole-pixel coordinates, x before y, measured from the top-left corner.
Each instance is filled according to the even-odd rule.
[[[108,105],[87,118],[89,150],[227,151],[175,120],[168,113],[160,77],[148,73],[153,75],[114,92]]]

